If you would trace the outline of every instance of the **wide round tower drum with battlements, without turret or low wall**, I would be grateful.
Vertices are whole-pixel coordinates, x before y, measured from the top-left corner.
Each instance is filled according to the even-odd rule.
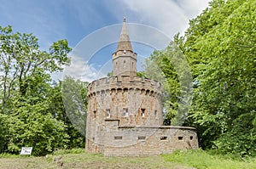
[[[121,78],[121,79],[119,79]],[[160,126],[163,123],[161,86],[141,77],[113,76],[91,82],[88,87],[86,149],[102,152],[105,120],[120,126]]]

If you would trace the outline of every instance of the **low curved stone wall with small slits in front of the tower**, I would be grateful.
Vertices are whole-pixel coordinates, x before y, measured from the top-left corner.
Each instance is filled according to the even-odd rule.
[[[198,138],[192,127],[118,127],[103,134],[103,154],[160,155],[176,149],[198,149]]]

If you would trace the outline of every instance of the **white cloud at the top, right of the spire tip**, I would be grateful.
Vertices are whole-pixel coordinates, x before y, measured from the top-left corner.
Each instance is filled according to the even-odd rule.
[[[188,27],[189,19],[207,8],[208,2],[210,0],[124,0],[112,1],[108,8],[111,8],[116,17],[122,17],[123,14],[128,21],[154,26],[173,37],[177,32],[183,33]],[[114,10],[115,3],[117,5]]]

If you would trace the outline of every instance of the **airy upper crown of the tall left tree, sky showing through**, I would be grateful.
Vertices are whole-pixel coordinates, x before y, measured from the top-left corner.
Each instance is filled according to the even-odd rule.
[[[68,64],[67,53],[71,51],[67,40],[54,42],[49,52],[41,51],[38,39],[32,34],[14,33],[11,26],[0,26],[0,70],[1,109],[5,111],[9,99],[19,91],[20,96],[26,96],[27,87],[35,82],[49,79],[49,73],[62,70],[61,66]],[[48,77],[47,77],[48,76]],[[38,82],[38,84],[41,84]]]

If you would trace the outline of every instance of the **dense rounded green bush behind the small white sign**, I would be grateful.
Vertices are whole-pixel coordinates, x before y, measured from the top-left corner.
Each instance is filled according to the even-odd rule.
[[[33,155],[45,155],[68,143],[64,124],[52,118],[48,104],[20,105],[9,115],[9,153],[19,153],[24,146],[33,147]]]

